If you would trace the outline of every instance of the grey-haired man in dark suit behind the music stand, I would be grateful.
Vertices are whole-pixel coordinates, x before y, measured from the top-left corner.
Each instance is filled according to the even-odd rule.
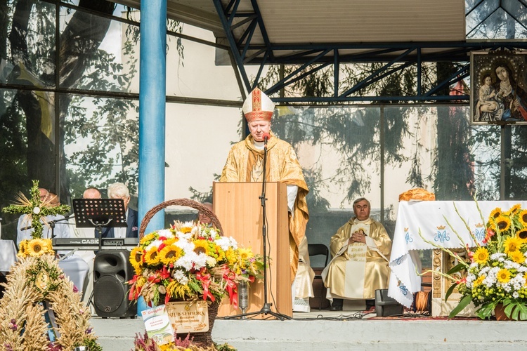
[[[103,228],[103,238],[136,238],[138,237],[138,214],[137,211],[128,207],[130,192],[123,183],[113,183],[108,187],[109,199],[123,199],[124,211],[126,212],[126,228],[110,227]]]

